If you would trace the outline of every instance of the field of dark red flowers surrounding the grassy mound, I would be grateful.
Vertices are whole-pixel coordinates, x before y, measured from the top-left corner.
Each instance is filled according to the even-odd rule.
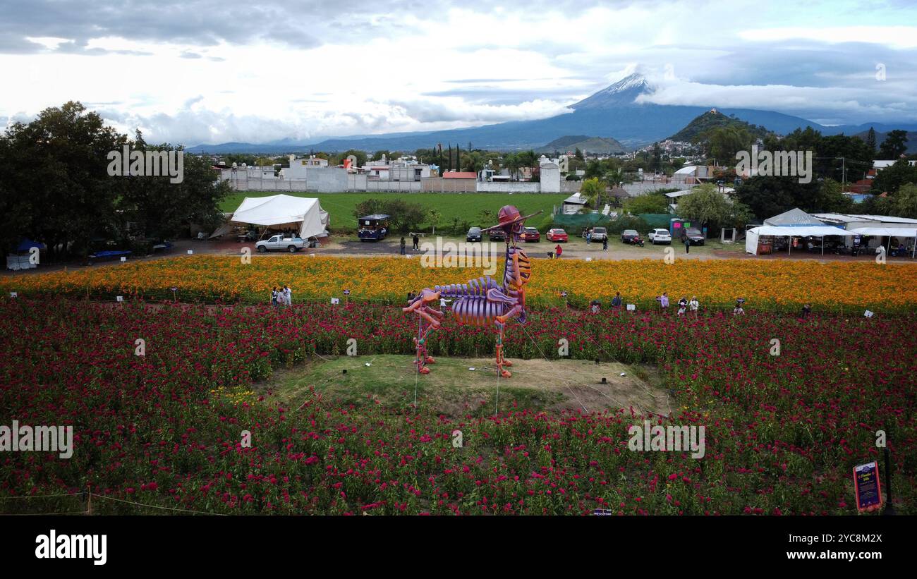
[[[72,425],[74,450],[69,459],[0,453],[0,512],[77,510],[79,496],[45,496],[89,488],[130,501],[94,501],[111,513],[159,512],[139,503],[213,513],[851,514],[851,468],[881,460],[882,430],[896,507],[913,514],[913,327],[912,317],[533,311],[525,332],[508,333],[508,356],[556,356],[566,337],[575,358],[657,365],[676,410],[476,409],[447,419],[261,396],[257,383],[274,368],[343,354],[349,337],[361,355],[400,354],[410,366],[415,322],[396,307],[4,300],[0,424]],[[780,355],[769,354],[772,338]],[[447,322],[429,349],[491,356],[492,345],[491,332]],[[705,426],[705,456],[629,450],[627,429],[644,418]],[[43,498],[11,498],[23,496]]]

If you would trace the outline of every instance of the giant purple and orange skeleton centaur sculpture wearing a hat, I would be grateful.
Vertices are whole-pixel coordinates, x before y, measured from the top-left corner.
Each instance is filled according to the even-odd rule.
[[[541,212],[538,212],[541,213]],[[532,263],[525,251],[516,246],[522,239],[525,220],[537,215],[522,216],[513,205],[501,208],[499,224],[481,231],[503,229],[506,234],[506,267],[503,270],[503,284],[498,284],[490,276],[471,279],[468,283],[434,286],[424,289],[403,308],[405,312],[417,313],[417,337],[414,345],[417,348],[414,364],[420,374],[429,374],[427,364],[433,364],[433,356],[426,352],[426,339],[430,332],[436,330],[443,319],[443,312],[430,307],[430,304],[441,298],[452,298],[452,312],[459,325],[496,326],[497,335],[497,373],[501,377],[511,377],[504,369],[513,364],[503,357],[503,328],[506,322],[518,318],[525,323],[525,284],[532,278]]]

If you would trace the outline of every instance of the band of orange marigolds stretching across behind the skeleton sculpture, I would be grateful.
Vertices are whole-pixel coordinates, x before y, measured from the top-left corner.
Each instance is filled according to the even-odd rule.
[[[502,260],[501,260],[502,261]],[[503,273],[502,264],[497,277]],[[482,275],[480,268],[424,268],[420,259],[398,257],[238,257],[188,256],[10,276],[0,288],[23,295],[83,295],[113,299],[268,301],[272,286],[289,285],[294,300],[343,297],[351,300],[404,299],[408,291],[436,284],[461,283]],[[789,309],[803,302],[823,308],[913,311],[917,303],[917,266],[874,262],[777,260],[581,261],[539,259],[527,287],[532,305],[569,300],[611,300],[620,291],[629,303],[650,304],[663,291],[673,302],[697,296],[702,305],[725,306],[736,297],[749,307]]]

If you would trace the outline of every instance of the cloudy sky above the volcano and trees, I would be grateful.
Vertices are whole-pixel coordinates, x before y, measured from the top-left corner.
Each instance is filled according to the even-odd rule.
[[[0,0],[0,127],[79,100],[188,146],[557,115],[649,100],[917,123],[917,4]]]

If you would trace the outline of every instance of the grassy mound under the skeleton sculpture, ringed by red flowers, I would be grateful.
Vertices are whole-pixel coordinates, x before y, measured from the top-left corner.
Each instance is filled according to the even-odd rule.
[[[497,404],[497,377],[492,358],[441,357],[428,375],[414,372],[411,355],[340,356],[275,371],[260,389],[292,405],[302,403],[309,388],[340,404],[365,407],[381,403],[417,407],[434,415],[490,415]],[[668,412],[669,400],[657,369],[588,360],[512,359],[513,377],[501,378],[500,410],[617,410],[631,405]],[[367,366],[369,364],[369,366]],[[474,368],[474,370],[470,370]],[[347,371],[345,374],[344,371]],[[622,377],[621,374],[624,373]],[[607,384],[602,385],[602,377]]]

